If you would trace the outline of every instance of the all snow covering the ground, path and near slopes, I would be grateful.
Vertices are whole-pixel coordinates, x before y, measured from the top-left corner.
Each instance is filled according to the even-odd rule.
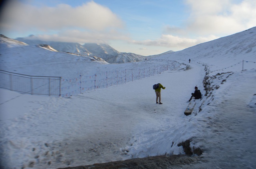
[[[2,43],[1,69],[28,75],[71,78],[161,63],[174,66],[161,74],[67,97],[1,89],[1,168],[54,169],[185,154],[178,145],[188,139],[191,149],[200,148],[203,154],[200,163],[183,168],[256,168],[255,34],[254,27],[123,64]],[[244,62],[243,71],[242,60],[250,61]],[[158,82],[166,87],[161,90],[162,105],[155,104],[152,88]],[[185,116],[195,86],[202,99]]]

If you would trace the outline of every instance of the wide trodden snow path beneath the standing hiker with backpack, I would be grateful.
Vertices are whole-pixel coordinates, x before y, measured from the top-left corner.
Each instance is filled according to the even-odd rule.
[[[166,71],[107,89],[53,97],[18,120],[7,120],[9,125],[3,126],[9,126],[10,142],[6,146],[23,145],[22,150],[10,153],[10,163],[19,163],[16,160],[22,154],[27,154],[23,164],[37,157],[32,160],[36,168],[45,168],[46,163],[58,168],[118,161],[140,157],[142,151],[146,156],[165,154],[167,149],[151,151],[140,140],[154,144],[157,138],[153,135],[159,130],[167,132],[170,126],[174,130],[182,125],[177,121],[184,118],[186,101],[195,85],[201,88],[204,74],[202,65],[191,66],[193,71]],[[158,82],[166,87],[161,92],[163,105],[155,104],[152,86]]]

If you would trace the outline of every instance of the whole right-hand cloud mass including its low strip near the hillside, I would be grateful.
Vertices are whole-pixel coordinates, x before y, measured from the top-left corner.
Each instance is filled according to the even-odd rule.
[[[255,0],[186,0],[190,16],[177,27],[167,25],[157,40],[134,43],[184,49],[256,26]],[[185,38],[186,37],[186,38]]]

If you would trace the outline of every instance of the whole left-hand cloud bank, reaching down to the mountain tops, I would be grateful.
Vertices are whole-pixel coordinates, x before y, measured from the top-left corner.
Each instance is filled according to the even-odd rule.
[[[77,7],[67,4],[37,7],[16,0],[11,2],[0,15],[4,32],[37,32],[30,38],[81,44],[128,39],[124,22],[109,8],[94,1]]]

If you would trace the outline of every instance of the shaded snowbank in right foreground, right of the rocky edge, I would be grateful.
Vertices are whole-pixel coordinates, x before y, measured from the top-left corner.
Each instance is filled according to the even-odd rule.
[[[205,104],[202,112],[190,118],[200,121],[197,123],[200,132],[193,142],[201,145],[205,152],[201,158],[209,168],[255,168],[256,109],[248,103],[256,93],[253,85],[256,76],[252,76],[252,71],[245,71],[225,73],[217,78],[223,82],[212,84],[219,86],[213,90],[214,99],[209,99],[209,105]]]

